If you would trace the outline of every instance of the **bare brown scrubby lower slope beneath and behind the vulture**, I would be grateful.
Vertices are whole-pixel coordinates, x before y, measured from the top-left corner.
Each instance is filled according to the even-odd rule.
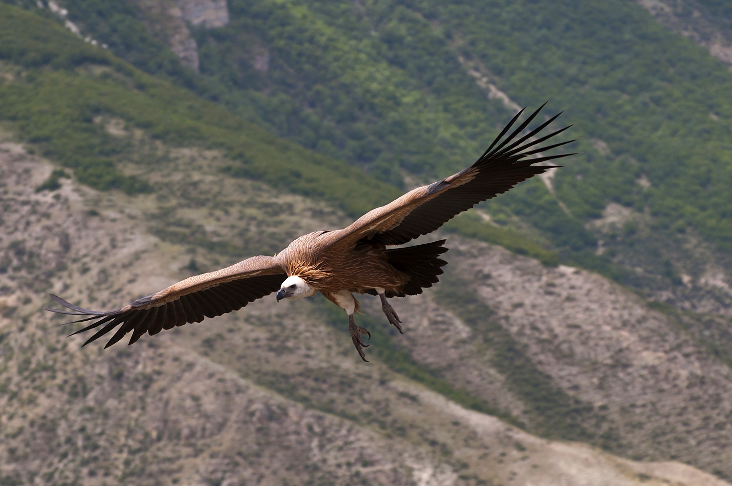
[[[48,305],[47,292],[111,308],[233,262],[237,253],[266,252],[301,232],[344,222],[324,205],[222,175],[225,161],[216,153],[160,153],[150,175],[156,191],[125,197],[67,178],[61,178],[60,189],[36,191],[51,165],[20,145],[0,145],[2,484],[726,484],[681,463],[620,459],[468,411],[373,355],[370,364],[360,362],[348,335],[324,324],[317,301],[275,305],[264,299],[219,319],[147,336],[129,348],[119,343],[102,350],[100,342],[79,349],[81,336],[64,338],[70,328],[53,327],[63,321],[38,311]],[[684,393],[702,394],[712,390],[702,383],[709,381],[726,400],[726,368],[669,331],[665,317],[637,297],[597,276],[548,269],[501,248],[452,243],[455,250],[448,255],[458,269],[455,278],[478,282],[468,288],[501,319],[507,317],[506,328],[525,343],[536,366],[567,393],[607,406],[608,419],[621,432],[632,418],[623,414],[635,413],[621,412],[628,404],[624,393],[648,388],[635,399],[638,404],[663,396],[649,386],[654,370],[662,371],[652,381],[657,386],[668,380],[666,386],[676,390],[683,378],[687,388],[695,383]],[[572,301],[549,281],[577,287],[575,298],[586,302],[564,307]],[[527,298],[529,293],[536,299]],[[448,381],[530,426],[530,404],[486,359],[490,346],[479,343],[481,331],[438,297],[428,292],[397,301],[406,324],[400,342]],[[363,300],[367,308],[372,305]],[[523,306],[515,305],[519,301]],[[620,330],[612,312],[628,303],[630,324]],[[585,314],[578,320],[573,316],[580,311]],[[591,323],[600,325],[588,334]],[[564,324],[579,327],[566,330]],[[626,348],[617,369],[601,367],[597,374],[583,368],[587,360],[605,362],[600,350]],[[558,349],[564,351],[555,356]],[[574,361],[563,354],[571,356],[569,349]],[[670,358],[661,362],[658,353]],[[593,388],[594,376],[605,377],[605,388]],[[674,400],[681,404],[689,397]],[[717,411],[710,405],[697,413],[703,401],[686,403],[683,413],[684,405],[662,411],[670,425],[690,420],[691,432],[709,431]],[[638,442],[650,451],[645,454],[668,459],[671,452],[649,443],[665,436],[639,430]],[[687,436],[703,445],[698,436]],[[720,438],[713,440],[724,446]],[[688,447],[677,458],[707,470],[714,466]],[[728,458],[720,456],[715,464],[724,462]]]

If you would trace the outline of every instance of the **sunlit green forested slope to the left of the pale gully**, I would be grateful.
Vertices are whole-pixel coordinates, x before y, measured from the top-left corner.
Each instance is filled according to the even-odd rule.
[[[428,178],[459,170],[509,117],[486,102],[444,39],[406,11],[406,25],[374,35],[347,2],[229,5],[228,26],[198,34],[202,75],[281,134],[385,181],[400,181],[399,168]],[[414,42],[400,37],[406,30]],[[255,66],[254,56],[269,63]]]

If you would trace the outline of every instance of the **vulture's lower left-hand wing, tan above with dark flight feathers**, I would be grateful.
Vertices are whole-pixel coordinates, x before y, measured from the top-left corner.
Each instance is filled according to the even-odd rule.
[[[182,326],[187,322],[201,322],[204,317],[236,311],[258,298],[275,292],[285,278],[287,278],[285,270],[280,267],[277,259],[253,257],[231,267],[186,278],[167,289],[142,297],[113,311],[90,311],[53,294],[51,294],[53,300],[71,311],[53,308],[44,310],[71,316],[86,316],[67,324],[94,321],[72,335],[104,324],[104,327],[97,330],[82,346],[96,341],[119,326],[104,346],[106,349],[130,331],[132,331],[130,338],[132,344],[144,333],[154,335],[163,329]]]

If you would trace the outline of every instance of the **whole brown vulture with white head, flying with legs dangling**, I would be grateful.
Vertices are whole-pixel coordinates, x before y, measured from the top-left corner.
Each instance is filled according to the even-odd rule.
[[[320,292],[346,311],[356,351],[367,361],[363,348],[368,344],[364,336],[370,338],[370,333],[356,325],[354,314],[359,311],[359,303],[354,293],[378,295],[386,319],[403,333],[402,321],[387,299],[421,294],[422,289],[436,284],[443,273],[441,267],[447,265],[439,258],[447,251],[445,240],[417,246],[390,246],[403,245],[427,235],[479,202],[504,193],[552,167],[561,167],[536,164],[574,155],[542,154],[574,140],[537,147],[569,128],[566,126],[537,137],[561,113],[522,134],[542,107],[544,105],[509,133],[523,110],[518,112],[470,167],[413,189],[397,200],[369,211],[344,229],[303,235],[275,257],[252,257],[231,267],[186,278],[112,311],[91,311],[56,295],[51,297],[66,309],[45,310],[82,316],[67,324],[91,321],[72,335],[102,326],[82,346],[117,327],[104,346],[106,349],[128,333],[132,333],[132,344],[145,333],[154,335],[163,329],[227,314],[272,292],[277,292],[277,302],[311,297]]]

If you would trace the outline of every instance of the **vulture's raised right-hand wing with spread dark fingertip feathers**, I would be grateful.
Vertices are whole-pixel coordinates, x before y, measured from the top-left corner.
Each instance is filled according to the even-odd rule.
[[[496,137],[496,140],[493,140],[488,150],[467,169],[429,186],[413,189],[397,200],[369,211],[349,227],[332,232],[332,235],[329,235],[329,238],[332,238],[331,244],[351,245],[365,240],[367,243],[373,244],[401,245],[433,232],[464,210],[468,210],[496,194],[508,191],[521,181],[526,181],[550,168],[561,167],[534,165],[575,155],[574,153],[541,155],[541,152],[574,142],[574,140],[535,148],[569,128],[569,126],[565,126],[556,132],[535,138],[561,113],[519,137],[544,105],[526,118],[526,121],[523,121],[511,134],[504,137],[523,110],[518,112]],[[534,154],[539,154],[539,156],[527,159]]]

